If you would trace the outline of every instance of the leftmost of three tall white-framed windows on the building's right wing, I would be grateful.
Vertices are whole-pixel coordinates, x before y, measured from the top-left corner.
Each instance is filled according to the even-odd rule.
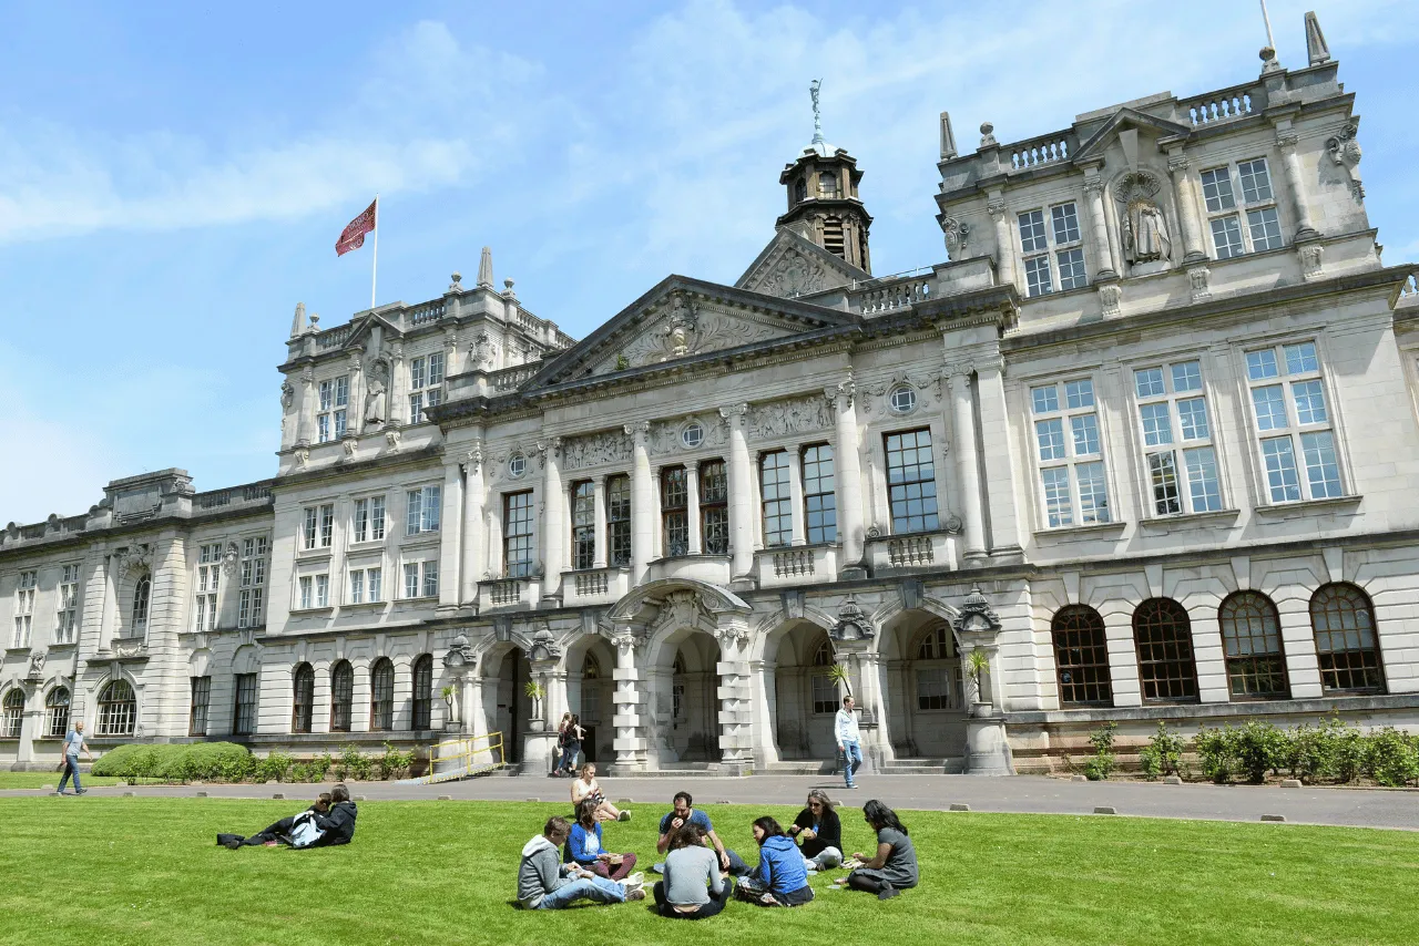
[[[1032,387],[1030,410],[1049,528],[1110,522],[1094,382]]]

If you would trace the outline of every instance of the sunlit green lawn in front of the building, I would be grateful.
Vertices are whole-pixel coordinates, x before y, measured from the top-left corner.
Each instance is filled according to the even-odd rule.
[[[0,943],[1412,943],[1419,835],[1118,817],[902,813],[922,885],[885,903],[826,889],[799,909],[731,903],[701,923],[643,903],[515,909],[522,844],[563,806],[360,804],[346,848],[216,847],[289,801],[0,798]],[[707,808],[752,848],[749,821]],[[849,848],[866,848],[844,807]],[[607,825],[648,867],[654,816]],[[755,855],[749,851],[749,861]],[[836,874],[836,872],[834,872]]]

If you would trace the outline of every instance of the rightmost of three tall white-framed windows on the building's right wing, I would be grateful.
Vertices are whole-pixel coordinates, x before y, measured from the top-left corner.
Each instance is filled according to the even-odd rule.
[[[1247,352],[1246,373],[1270,502],[1345,495],[1315,343]]]

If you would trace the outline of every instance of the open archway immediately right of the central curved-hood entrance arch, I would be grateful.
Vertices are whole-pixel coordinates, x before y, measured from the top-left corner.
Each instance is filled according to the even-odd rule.
[[[832,759],[841,689],[830,675],[837,660],[827,633],[809,621],[789,624],[768,642],[765,662],[771,661],[769,712],[779,759]]]

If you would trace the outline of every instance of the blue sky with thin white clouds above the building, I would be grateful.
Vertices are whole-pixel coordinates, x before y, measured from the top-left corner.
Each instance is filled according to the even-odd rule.
[[[291,311],[339,325],[471,282],[491,245],[580,338],[668,272],[732,281],[778,173],[824,132],[866,170],[880,274],[944,258],[937,115],[962,150],[1171,89],[1250,81],[1253,0],[841,3],[0,1],[0,521],[112,478],[275,469]],[[1413,0],[1271,0],[1283,65],[1314,9],[1358,95],[1385,261],[1419,260]]]

